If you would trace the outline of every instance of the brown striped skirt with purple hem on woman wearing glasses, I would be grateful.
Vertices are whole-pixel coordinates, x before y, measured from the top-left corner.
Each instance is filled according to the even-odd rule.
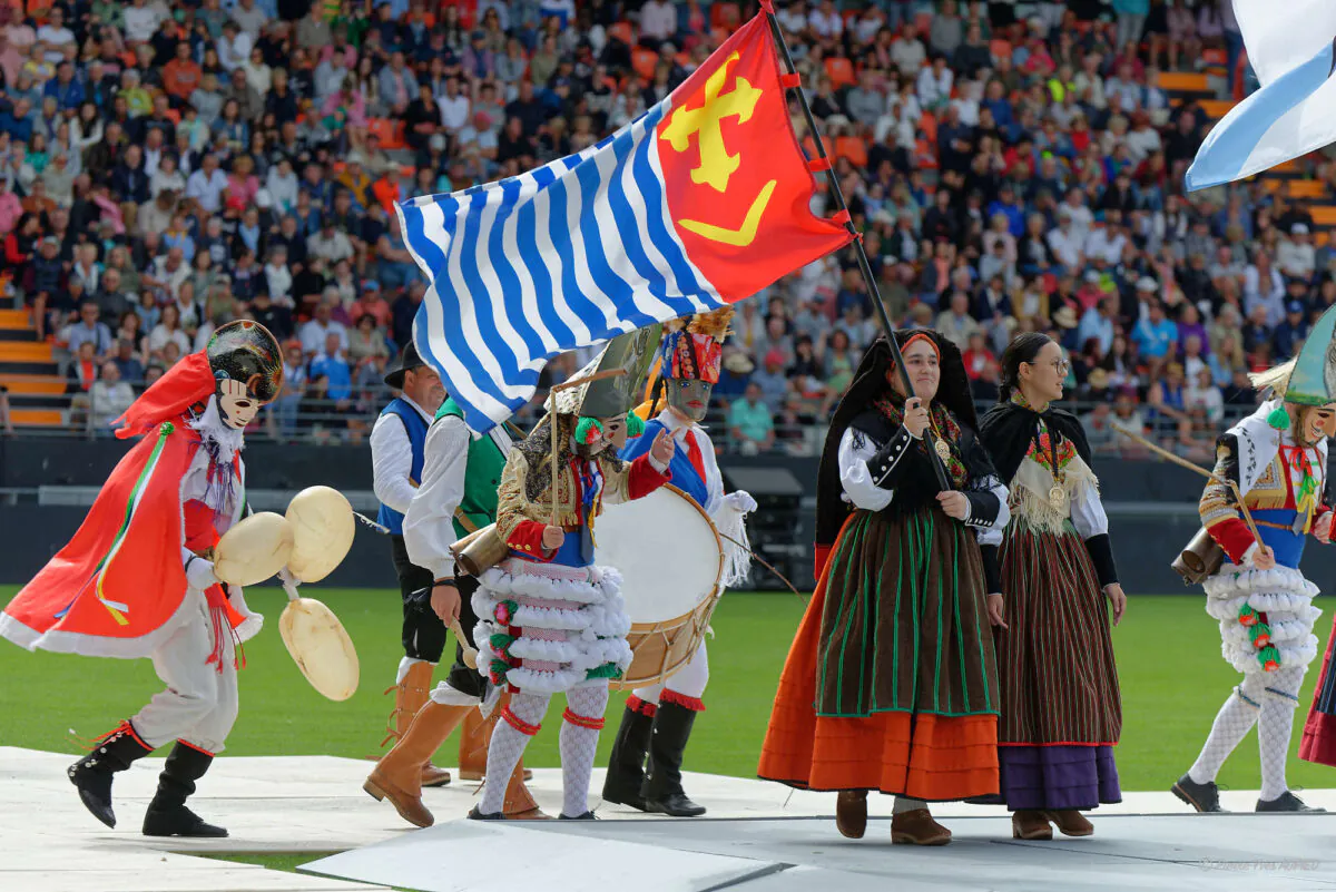
[[[1085,542],[1013,518],[1001,550],[1006,629],[994,629],[1002,792],[1011,809],[1120,803],[1122,733],[1109,612]]]

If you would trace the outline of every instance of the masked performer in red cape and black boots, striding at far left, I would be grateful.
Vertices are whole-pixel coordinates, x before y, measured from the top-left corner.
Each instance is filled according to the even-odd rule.
[[[148,836],[227,836],[186,808],[236,720],[235,641],[259,630],[223,586],[214,545],[242,513],[242,431],[278,395],[283,358],[255,322],[232,322],[122,417],[147,434],[103,485],[69,543],[0,616],[0,634],[90,657],[151,657],[166,689],[69,766],[94,816],[116,825],[112,774],[176,741],[148,805]]]

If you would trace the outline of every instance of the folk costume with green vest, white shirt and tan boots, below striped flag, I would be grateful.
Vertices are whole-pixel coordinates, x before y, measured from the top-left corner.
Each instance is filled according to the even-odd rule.
[[[450,546],[465,535],[496,522],[497,490],[506,455],[513,447],[504,425],[474,435],[464,422],[464,410],[446,399],[426,433],[421,485],[403,519],[403,543],[415,566],[425,568],[428,593],[432,584],[453,582],[460,592],[460,628],[476,634],[473,594],[478,581],[456,568]],[[424,593],[410,593],[409,602],[424,610]],[[429,608],[426,608],[429,612]],[[440,624],[440,618],[432,614]],[[425,664],[424,664],[425,665]],[[428,673],[430,677],[430,673]],[[426,764],[445,738],[462,722],[460,776],[481,780],[486,772],[486,749],[501,709],[488,718],[478,706],[484,697],[482,676],[464,662],[464,648],[456,648],[454,665],[445,681],[409,716],[411,725],[394,748],[375,765],[363,789],[375,799],[389,797],[399,815],[418,827],[434,823],[422,804],[418,766]],[[506,789],[502,812],[506,817],[538,817],[533,799],[524,787],[524,768],[517,765]]]

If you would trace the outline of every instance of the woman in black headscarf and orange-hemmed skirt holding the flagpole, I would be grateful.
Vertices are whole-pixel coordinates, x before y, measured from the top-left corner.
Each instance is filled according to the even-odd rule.
[[[894,793],[891,841],[943,845],[951,832],[927,803],[998,791],[986,594],[999,589],[979,539],[1001,542],[1007,494],[974,434],[961,351],[933,331],[895,338],[914,393],[878,339],[831,421],[818,475],[818,586],[759,773],[840,791],[836,824],[850,837],[866,829],[867,791]],[[929,449],[946,466],[947,491]]]

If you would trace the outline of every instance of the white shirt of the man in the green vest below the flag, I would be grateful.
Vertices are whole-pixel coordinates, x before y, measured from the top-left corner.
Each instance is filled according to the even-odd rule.
[[[398,427],[402,429],[402,425]],[[375,437],[374,430],[371,437]],[[510,454],[513,443],[505,425],[497,425],[486,437],[504,455]],[[432,425],[422,447],[422,481],[403,513],[403,546],[409,560],[430,570],[436,580],[448,580],[456,573],[454,555],[450,554],[450,546],[458,538],[454,534],[454,511],[464,501],[472,438],[473,431],[456,415],[446,415]]]

